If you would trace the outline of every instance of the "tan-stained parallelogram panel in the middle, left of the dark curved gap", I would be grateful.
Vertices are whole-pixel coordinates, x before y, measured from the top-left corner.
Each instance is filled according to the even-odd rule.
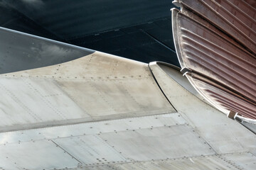
[[[163,94],[151,78],[63,81],[58,83],[93,119],[122,117],[121,114],[151,115],[173,112],[163,103]],[[146,88],[145,88],[146,87]],[[83,91],[83,93],[81,93]],[[154,97],[153,97],[154,93]],[[159,98],[160,100],[156,100]],[[149,105],[151,103],[151,106]]]

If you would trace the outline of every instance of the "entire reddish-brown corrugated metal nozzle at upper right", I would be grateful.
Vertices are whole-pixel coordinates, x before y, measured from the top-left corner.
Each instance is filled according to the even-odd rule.
[[[182,12],[172,9],[174,41],[191,84],[220,110],[256,119],[255,9],[235,0],[180,2]]]

